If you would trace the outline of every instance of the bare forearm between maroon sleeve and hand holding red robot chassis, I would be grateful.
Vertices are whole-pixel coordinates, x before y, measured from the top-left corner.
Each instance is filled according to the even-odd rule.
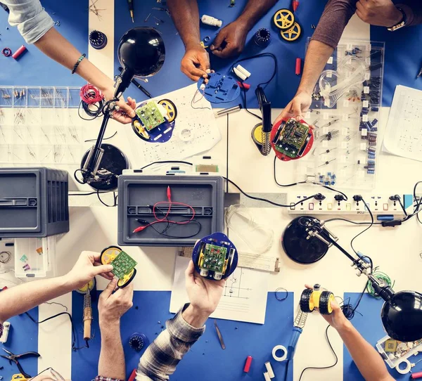
[[[312,94],[314,86],[334,49],[320,41],[310,41],[305,57],[299,92]]]

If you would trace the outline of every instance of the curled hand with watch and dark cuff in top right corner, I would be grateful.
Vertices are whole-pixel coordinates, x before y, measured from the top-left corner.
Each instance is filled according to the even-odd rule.
[[[356,4],[356,14],[364,22],[381,27],[392,27],[406,14],[406,26],[422,23],[421,1],[407,1],[407,4],[394,4],[391,0],[360,0]]]

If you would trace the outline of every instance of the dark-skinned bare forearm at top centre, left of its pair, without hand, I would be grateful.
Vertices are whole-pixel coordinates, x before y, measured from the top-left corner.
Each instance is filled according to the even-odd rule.
[[[196,0],[168,0],[170,15],[184,46],[200,44],[199,10]]]

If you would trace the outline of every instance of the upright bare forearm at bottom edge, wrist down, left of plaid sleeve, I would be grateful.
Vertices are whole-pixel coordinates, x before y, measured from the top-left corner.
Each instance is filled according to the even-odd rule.
[[[117,380],[125,379],[124,353],[120,337],[120,321],[100,321],[101,351],[98,361],[98,375]]]

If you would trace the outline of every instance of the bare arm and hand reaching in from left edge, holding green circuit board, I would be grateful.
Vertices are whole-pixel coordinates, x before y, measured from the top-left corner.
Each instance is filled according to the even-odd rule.
[[[112,265],[100,264],[99,253],[82,252],[73,269],[65,276],[34,280],[0,292],[0,323],[4,323],[12,316],[23,314],[41,303],[81,288],[96,275],[111,279],[112,270]]]

